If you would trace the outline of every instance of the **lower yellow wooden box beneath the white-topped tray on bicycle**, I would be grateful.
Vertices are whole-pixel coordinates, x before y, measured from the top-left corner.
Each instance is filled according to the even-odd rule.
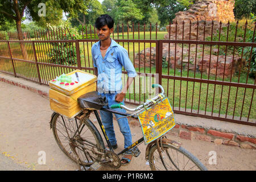
[[[82,94],[95,90],[96,82],[79,90],[72,96],[66,96],[65,94],[56,90],[49,89],[49,102],[51,109],[56,113],[65,115],[68,118],[73,118],[82,110],[82,108],[79,106],[79,103],[77,102],[77,98],[79,98]]]

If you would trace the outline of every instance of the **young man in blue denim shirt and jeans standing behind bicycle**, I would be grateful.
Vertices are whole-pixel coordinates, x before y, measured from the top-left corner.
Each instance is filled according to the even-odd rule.
[[[108,106],[119,104],[123,99],[129,88],[131,82],[137,73],[131,63],[126,49],[119,46],[110,34],[113,32],[114,20],[109,15],[101,15],[97,18],[95,27],[99,42],[92,46],[92,59],[97,78],[98,93],[102,97],[106,97]],[[122,88],[122,67],[125,68],[128,78],[125,86]],[[125,113],[125,109],[116,109]],[[107,111],[101,111],[101,120],[104,124],[106,134],[110,140],[112,147],[117,148],[117,140],[115,138],[113,127],[113,114]],[[115,118],[122,117],[122,115],[115,114]],[[118,119],[118,125],[123,137],[125,139],[125,148],[132,144],[131,131],[127,118]],[[137,149],[138,150],[138,149]],[[127,164],[130,162],[132,156],[124,155],[121,162]]]

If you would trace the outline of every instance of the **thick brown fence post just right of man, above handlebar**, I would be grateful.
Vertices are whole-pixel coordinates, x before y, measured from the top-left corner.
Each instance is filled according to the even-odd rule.
[[[158,40],[156,42],[156,73],[158,73],[158,84],[162,85],[162,59],[163,59],[163,42]],[[161,92],[159,88],[159,92]]]

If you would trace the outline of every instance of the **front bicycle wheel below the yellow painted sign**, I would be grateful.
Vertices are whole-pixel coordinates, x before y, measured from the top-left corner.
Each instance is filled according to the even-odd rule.
[[[178,149],[169,145],[163,144],[164,150],[161,149],[163,158],[160,158],[157,146],[154,145],[150,148],[148,154],[148,162],[152,171],[207,171],[207,168],[190,152],[185,150],[183,147]],[[175,153],[175,155],[174,155]],[[182,161],[179,162],[179,159]],[[183,163],[183,167],[180,167],[180,164]]]

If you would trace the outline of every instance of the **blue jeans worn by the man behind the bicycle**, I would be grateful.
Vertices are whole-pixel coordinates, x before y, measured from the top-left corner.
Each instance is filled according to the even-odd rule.
[[[106,97],[106,101],[108,101],[108,105],[104,106],[106,109],[110,109],[109,106],[113,105],[113,104],[119,104],[119,102],[115,101],[115,95],[117,94],[117,92],[115,93],[101,93],[102,97]],[[122,101],[122,104],[124,104],[124,102]],[[122,112],[122,113],[126,113],[125,109],[114,109],[116,111]],[[100,114],[101,114],[101,121],[105,127],[105,131],[106,134],[108,135],[109,141],[111,143],[111,145],[115,145],[117,144],[117,139],[115,138],[115,132],[114,132],[114,126],[113,126],[113,114],[108,112],[108,111],[102,111],[100,110]],[[114,114],[115,118],[119,118],[119,117],[123,117],[123,115],[119,115],[119,114]],[[123,134],[123,137],[125,138],[125,148],[130,146],[133,142],[131,140],[131,131],[130,131],[130,126],[128,123],[128,119],[127,118],[121,118],[117,120],[118,122],[118,126],[119,129],[121,131],[121,133]]]

